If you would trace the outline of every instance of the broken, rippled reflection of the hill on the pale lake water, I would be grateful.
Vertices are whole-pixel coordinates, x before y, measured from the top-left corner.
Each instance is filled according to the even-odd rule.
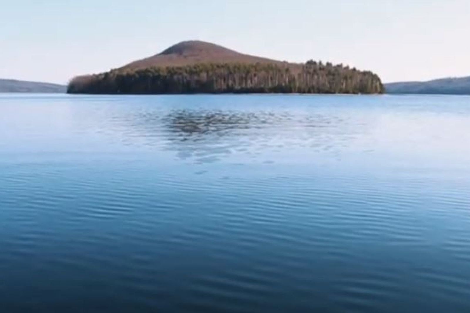
[[[172,110],[116,118],[129,144],[175,151],[181,159],[214,162],[235,153],[255,158],[269,151],[305,149],[331,155],[351,144],[358,129],[342,118],[289,111]]]

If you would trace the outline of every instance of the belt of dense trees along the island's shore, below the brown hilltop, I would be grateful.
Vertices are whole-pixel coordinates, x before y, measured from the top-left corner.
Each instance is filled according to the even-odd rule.
[[[305,64],[194,64],[115,69],[78,76],[69,93],[382,93],[380,78],[368,71],[308,61]]]

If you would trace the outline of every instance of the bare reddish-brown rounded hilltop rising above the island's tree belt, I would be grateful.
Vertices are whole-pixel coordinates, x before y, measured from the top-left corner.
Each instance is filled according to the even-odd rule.
[[[121,69],[186,66],[201,63],[284,64],[284,62],[281,61],[238,53],[234,50],[209,42],[191,40],[180,42],[151,57],[133,61],[132,63],[123,66]]]

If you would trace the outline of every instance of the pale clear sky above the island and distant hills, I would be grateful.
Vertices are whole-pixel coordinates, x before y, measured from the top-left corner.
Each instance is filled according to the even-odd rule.
[[[470,0],[0,0],[0,77],[67,83],[199,39],[384,82],[470,75]]]

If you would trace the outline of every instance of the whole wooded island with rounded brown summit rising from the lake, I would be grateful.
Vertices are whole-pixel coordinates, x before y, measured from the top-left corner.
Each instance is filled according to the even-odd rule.
[[[183,41],[109,72],[78,76],[69,93],[382,93],[369,71],[307,61],[288,63],[238,53],[204,41]]]

